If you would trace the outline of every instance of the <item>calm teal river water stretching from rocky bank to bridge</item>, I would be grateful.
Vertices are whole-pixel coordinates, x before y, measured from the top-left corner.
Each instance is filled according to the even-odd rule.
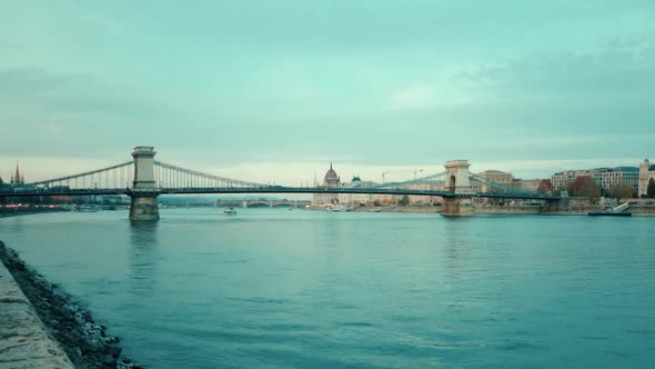
[[[0,219],[149,368],[653,368],[655,218]]]

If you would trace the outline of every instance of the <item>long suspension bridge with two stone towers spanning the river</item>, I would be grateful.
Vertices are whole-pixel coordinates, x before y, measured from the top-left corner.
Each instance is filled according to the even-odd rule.
[[[361,193],[429,196],[443,198],[442,213],[466,216],[473,198],[560,200],[553,195],[522,191],[496,183],[468,171],[466,160],[451,160],[445,170],[403,182],[375,187],[285,187],[232,179],[154,160],[153,147],[137,147],[133,160],[82,173],[0,188],[0,197],[103,196],[131,198],[130,219],[159,219],[157,198],[161,195],[226,193]]]

